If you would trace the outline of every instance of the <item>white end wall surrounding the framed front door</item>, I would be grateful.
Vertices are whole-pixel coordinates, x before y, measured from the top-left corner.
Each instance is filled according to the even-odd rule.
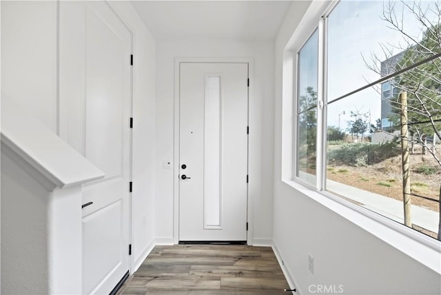
[[[270,243],[273,219],[273,42],[158,41],[156,57],[155,236],[158,243],[173,243],[173,170],[163,169],[163,161],[172,162],[174,155],[174,59],[177,57],[254,58],[254,95],[249,101],[249,197],[254,203],[254,216],[250,216],[249,222],[252,223],[254,243]]]

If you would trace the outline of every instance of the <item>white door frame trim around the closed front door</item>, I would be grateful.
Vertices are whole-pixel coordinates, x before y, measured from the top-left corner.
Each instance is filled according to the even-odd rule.
[[[247,63],[248,64],[248,125],[249,125],[249,102],[252,101],[254,92],[254,59],[251,57],[178,57],[174,59],[174,141],[173,141],[173,243],[179,243],[179,132],[180,132],[180,88],[181,63]],[[249,167],[249,134],[248,134],[248,167]],[[251,181],[250,181],[251,182]],[[249,183],[250,183],[249,182]],[[253,241],[253,198],[249,194],[247,185],[247,244]]]

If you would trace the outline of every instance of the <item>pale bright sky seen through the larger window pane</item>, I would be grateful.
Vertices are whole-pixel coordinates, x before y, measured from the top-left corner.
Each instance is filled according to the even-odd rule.
[[[372,63],[371,54],[376,54],[381,60],[386,59],[380,44],[384,44],[398,54],[402,50],[394,47],[406,47],[404,35],[401,32],[387,28],[387,21],[380,19],[384,6],[389,1],[349,1],[338,3],[329,15],[328,21],[328,101],[338,98],[348,92],[360,88],[362,85],[380,79],[380,75],[367,68]],[[412,37],[420,39],[422,25],[401,1],[393,1],[398,21],[404,20],[404,31]],[[413,1],[405,1],[413,5]],[[416,1],[424,8],[435,8],[434,1]],[[403,9],[404,8],[404,9]],[[431,19],[434,13],[427,12]],[[436,22],[435,22],[436,23]],[[377,62],[378,67],[380,66]],[[380,118],[380,94],[373,88],[362,90],[358,94],[348,96],[336,103],[328,105],[328,125],[347,128],[347,121],[351,120],[350,112],[369,112],[371,123]],[[342,112],[345,111],[345,114]]]

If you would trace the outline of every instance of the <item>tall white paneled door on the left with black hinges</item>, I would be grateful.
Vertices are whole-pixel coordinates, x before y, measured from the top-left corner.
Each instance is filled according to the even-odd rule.
[[[104,1],[60,12],[61,136],[105,173],[83,186],[83,294],[109,294],[129,270],[132,37]]]

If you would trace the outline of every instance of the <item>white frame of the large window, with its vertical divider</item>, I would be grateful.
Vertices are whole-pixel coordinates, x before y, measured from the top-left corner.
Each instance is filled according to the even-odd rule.
[[[436,240],[435,238],[431,238],[426,234],[422,234],[422,232],[418,232],[417,230],[413,230],[402,223],[398,223],[397,221],[393,221],[392,219],[383,216],[380,213],[377,213],[373,210],[369,210],[360,205],[356,205],[346,199],[338,196],[333,192],[329,192],[326,190],[326,181],[327,181],[327,155],[326,155],[326,145],[327,145],[327,26],[328,26],[328,17],[336,8],[336,6],[340,3],[340,0],[331,1],[331,3],[327,3],[320,8],[321,13],[316,14],[317,17],[320,17],[318,21],[311,22],[309,21],[309,26],[307,28],[302,28],[303,32],[300,33],[300,41],[297,41],[298,45],[296,48],[291,50],[291,54],[294,57],[294,80],[293,83],[293,92],[291,99],[293,99],[293,116],[292,116],[292,134],[291,138],[291,152],[292,152],[292,160],[291,160],[291,174],[289,179],[283,179],[283,181],[292,187],[296,188],[300,192],[305,192],[311,199],[316,199],[319,203],[327,204],[326,206],[329,209],[334,211],[344,211],[346,210],[341,208],[343,206],[347,209],[352,210],[353,212],[357,212],[360,216],[365,216],[375,221],[376,223],[386,226],[389,230],[393,230],[393,232],[403,234],[407,238],[411,238],[419,245],[424,245],[429,247],[431,250],[440,253],[441,252],[441,241]],[[304,179],[300,179],[298,174],[298,83],[300,79],[299,74],[299,52],[304,47],[305,43],[309,41],[309,38],[314,34],[314,32],[318,30],[318,96],[317,96],[317,138],[316,138],[316,184],[313,185],[311,182],[307,182]],[[305,33],[305,31],[307,33]],[[291,45],[292,46],[292,45]],[[384,83],[386,80],[378,83]],[[361,91],[361,90],[358,90]],[[390,86],[391,96],[393,95],[392,86]],[[382,92],[381,92],[382,93]],[[322,104],[320,106],[320,103]],[[320,167],[320,168],[319,168]],[[322,199],[325,197],[328,201]],[[334,204],[329,205],[329,200],[334,201]],[[338,208],[338,210],[336,210]],[[349,214],[353,215],[353,214]],[[353,221],[350,219],[350,221]],[[364,227],[362,227],[364,228]],[[377,227],[374,227],[377,229]],[[369,231],[370,232],[370,231]],[[384,230],[380,230],[380,234],[375,234],[376,236],[381,236],[384,234]],[[390,233],[389,233],[390,234]],[[393,238],[392,238],[393,239]],[[386,240],[386,239],[385,239]],[[409,252],[412,252],[415,256],[423,256],[420,254],[416,254],[414,248],[409,245],[398,245],[396,241],[394,244],[399,249],[408,249]],[[407,251],[403,251],[407,253]],[[417,258],[418,261],[422,261],[424,259]],[[424,263],[424,265],[429,265],[429,263]]]

